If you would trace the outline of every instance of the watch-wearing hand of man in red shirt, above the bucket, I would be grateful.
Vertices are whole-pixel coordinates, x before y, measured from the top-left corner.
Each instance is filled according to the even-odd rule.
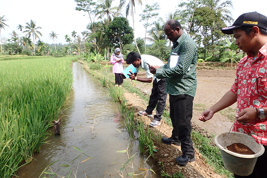
[[[238,122],[250,123],[253,122],[257,116],[257,111],[255,108],[245,108],[240,113],[235,114]]]

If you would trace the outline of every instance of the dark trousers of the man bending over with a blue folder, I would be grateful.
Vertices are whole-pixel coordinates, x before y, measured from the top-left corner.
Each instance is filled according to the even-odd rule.
[[[149,105],[146,109],[147,113],[152,113],[152,111],[156,108],[156,115],[154,115],[154,119],[157,121],[161,120],[161,115],[164,112],[165,104],[167,99],[166,93],[166,80],[161,79],[157,82],[157,79],[153,81],[153,87],[151,90],[151,95],[149,99]]]

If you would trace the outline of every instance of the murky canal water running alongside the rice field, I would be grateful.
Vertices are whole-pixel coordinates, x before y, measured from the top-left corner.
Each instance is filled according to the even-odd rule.
[[[65,116],[62,117],[61,135],[52,134],[48,139],[49,144],[43,144],[33,162],[20,168],[17,176],[39,178],[50,163],[58,160],[50,165],[50,172],[59,176],[68,177],[69,170],[73,169],[70,177],[121,178],[117,171],[135,153],[133,160],[128,163],[133,168],[126,166],[127,173],[140,174],[150,168],[156,170],[153,161],[146,161],[147,156],[139,154],[138,141],[130,141],[117,104],[100,82],[86,73],[79,63],[73,63],[73,79],[73,91],[66,106],[69,109],[64,111]],[[82,152],[74,147],[84,154],[81,155]],[[117,152],[127,148],[128,154]],[[85,154],[91,158],[86,160],[88,157]],[[63,166],[66,164],[71,167]],[[124,169],[124,178],[127,178],[127,173]],[[145,174],[137,176],[144,177]],[[159,177],[159,174],[156,176],[148,171],[147,178]]]

